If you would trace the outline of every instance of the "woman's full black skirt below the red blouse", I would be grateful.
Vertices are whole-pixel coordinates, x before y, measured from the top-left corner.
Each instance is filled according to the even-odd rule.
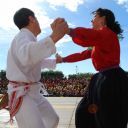
[[[96,111],[91,113],[89,106]],[[128,77],[121,68],[95,74],[77,106],[76,128],[127,128]]]

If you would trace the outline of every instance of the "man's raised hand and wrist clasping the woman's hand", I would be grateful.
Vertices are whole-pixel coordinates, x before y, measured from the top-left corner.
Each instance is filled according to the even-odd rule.
[[[64,18],[55,19],[51,24],[51,28],[53,30],[51,38],[53,39],[54,43],[60,40],[69,31],[68,24]]]

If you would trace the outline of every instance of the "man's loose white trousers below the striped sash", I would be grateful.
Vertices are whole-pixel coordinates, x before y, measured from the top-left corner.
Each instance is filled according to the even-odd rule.
[[[18,128],[57,128],[59,117],[40,93],[40,84],[32,85],[16,113]]]

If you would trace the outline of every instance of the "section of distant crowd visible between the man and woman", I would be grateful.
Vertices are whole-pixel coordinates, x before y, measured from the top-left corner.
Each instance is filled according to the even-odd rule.
[[[72,96],[81,97],[84,95],[90,79],[86,78],[56,78],[41,79],[49,93],[49,96]]]

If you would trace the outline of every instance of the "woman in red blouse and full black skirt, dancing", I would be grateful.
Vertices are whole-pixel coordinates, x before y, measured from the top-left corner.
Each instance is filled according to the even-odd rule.
[[[111,10],[93,12],[93,28],[69,28],[74,43],[92,47],[66,57],[57,55],[58,62],[77,62],[91,58],[98,71],[92,78],[77,106],[76,128],[126,128],[128,121],[128,78],[120,64],[122,37],[120,24]]]

